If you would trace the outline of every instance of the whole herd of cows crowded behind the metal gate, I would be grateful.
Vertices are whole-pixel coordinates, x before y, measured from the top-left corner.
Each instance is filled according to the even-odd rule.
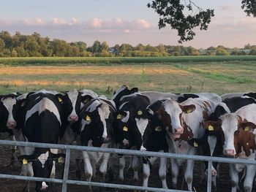
[[[160,93],[138,91],[123,85],[111,99],[94,91],[35,91],[0,96],[0,133],[12,140],[52,144],[117,147],[189,155],[227,156],[255,160],[256,93]],[[56,163],[65,154],[56,149],[18,147],[21,175],[54,178]],[[1,153],[1,152],[0,152]],[[110,153],[83,151],[86,180],[99,172],[102,181],[111,168]],[[143,166],[143,186],[148,186],[150,168],[159,163],[162,188],[167,188],[167,159],[132,157],[134,180]],[[184,179],[192,191],[192,160],[170,159],[172,187],[176,188],[178,170],[186,164]],[[126,156],[118,154],[118,179],[124,180]],[[205,162],[206,172],[208,163]],[[77,166],[80,179],[80,169]],[[244,171],[244,191],[252,191],[256,166],[230,164],[232,192],[239,189],[238,173]],[[218,164],[211,168],[216,188]],[[91,190],[91,188],[90,188]],[[29,191],[29,182],[24,191]],[[53,183],[36,182],[36,191],[55,191]]]

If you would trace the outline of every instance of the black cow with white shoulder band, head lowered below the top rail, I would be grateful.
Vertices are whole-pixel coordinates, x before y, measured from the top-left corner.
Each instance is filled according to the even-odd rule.
[[[23,101],[22,133],[26,142],[44,142],[57,144],[61,137],[61,117],[63,116],[63,96],[51,91],[29,93]],[[20,147],[21,148],[21,147]],[[55,177],[55,164],[59,158],[56,149],[23,147],[20,161],[23,162],[21,175],[36,177]],[[29,183],[24,188],[29,191]],[[36,182],[36,191],[54,191],[53,183]]]

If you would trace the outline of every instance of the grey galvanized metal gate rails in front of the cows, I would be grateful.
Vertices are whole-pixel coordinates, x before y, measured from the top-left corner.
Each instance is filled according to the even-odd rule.
[[[125,155],[140,155],[140,156],[154,156],[154,157],[162,157],[162,158],[176,158],[176,159],[191,159],[195,161],[208,161],[208,177],[207,177],[207,191],[211,192],[211,167],[212,162],[219,163],[227,163],[227,164],[245,164],[245,165],[255,165],[256,161],[252,160],[242,160],[242,159],[234,159],[234,158],[217,158],[217,157],[208,157],[201,155],[184,155],[184,154],[176,154],[176,153],[159,153],[159,152],[149,152],[149,151],[139,151],[139,150],[121,150],[115,148],[101,148],[101,147],[85,147],[85,146],[77,146],[77,145],[56,145],[56,144],[48,144],[48,143],[37,143],[37,142],[14,142],[8,140],[0,140],[0,145],[11,145],[11,146],[22,146],[22,147],[42,147],[42,148],[53,148],[59,150],[66,150],[66,158],[64,165],[64,176],[63,179],[50,179],[50,178],[42,178],[42,177],[26,177],[19,175],[11,175],[11,174],[0,174],[0,178],[5,179],[13,179],[13,180],[31,180],[31,181],[39,181],[39,182],[50,182],[50,183],[62,183],[62,192],[67,191],[67,184],[72,185],[91,185],[97,187],[104,188],[121,188],[127,190],[138,190],[138,191],[163,191],[163,192],[184,192],[181,190],[173,190],[173,189],[163,189],[163,188],[146,188],[135,185],[120,185],[113,183],[97,183],[97,182],[86,182],[80,180],[69,180],[69,163],[70,163],[70,150],[78,150],[78,151],[92,151],[92,152],[102,152],[102,153],[121,153]]]

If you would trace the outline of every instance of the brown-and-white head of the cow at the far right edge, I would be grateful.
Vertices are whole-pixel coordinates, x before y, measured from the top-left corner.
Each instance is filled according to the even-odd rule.
[[[253,131],[255,123],[242,120],[236,114],[230,113],[219,117],[218,121],[206,121],[204,127],[208,131],[219,131],[222,136],[224,155],[234,157],[244,150],[249,155],[249,149],[255,149]]]

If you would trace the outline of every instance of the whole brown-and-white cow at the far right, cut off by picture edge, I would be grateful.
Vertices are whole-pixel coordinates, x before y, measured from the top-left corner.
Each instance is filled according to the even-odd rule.
[[[248,104],[236,112],[221,115],[217,121],[206,121],[205,128],[211,128],[222,135],[223,153],[227,157],[255,160],[256,104]],[[246,168],[244,191],[252,191],[256,166],[230,164],[232,192],[239,189],[238,173]]]

